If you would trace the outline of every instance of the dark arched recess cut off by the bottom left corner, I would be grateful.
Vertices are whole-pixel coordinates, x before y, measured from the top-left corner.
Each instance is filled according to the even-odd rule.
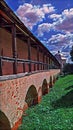
[[[2,111],[0,111],[0,130],[11,130],[9,120]]]

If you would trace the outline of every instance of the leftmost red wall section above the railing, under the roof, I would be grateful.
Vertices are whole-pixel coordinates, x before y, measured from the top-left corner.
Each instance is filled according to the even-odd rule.
[[[5,29],[0,29],[0,55],[12,57],[12,36]]]

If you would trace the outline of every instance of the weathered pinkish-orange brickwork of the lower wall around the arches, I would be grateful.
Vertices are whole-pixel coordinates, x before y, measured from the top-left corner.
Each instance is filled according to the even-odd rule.
[[[20,78],[8,79],[0,81],[0,110],[7,116],[11,128],[17,129],[17,124],[28,108],[25,97],[31,85],[34,85],[38,93],[38,103],[42,98],[42,84],[44,79],[47,81],[49,91],[50,76],[57,76],[60,70],[49,70],[47,72],[39,72]],[[18,123],[17,123],[18,122]]]

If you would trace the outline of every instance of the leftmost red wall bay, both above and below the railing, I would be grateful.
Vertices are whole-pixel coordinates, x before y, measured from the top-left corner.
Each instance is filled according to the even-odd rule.
[[[12,43],[11,34],[5,29],[0,29],[0,55],[12,57]],[[2,62],[2,72],[3,75],[13,73],[13,65],[11,62]]]

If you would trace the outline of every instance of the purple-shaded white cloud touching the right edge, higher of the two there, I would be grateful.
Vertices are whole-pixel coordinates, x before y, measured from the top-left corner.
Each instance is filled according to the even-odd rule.
[[[61,17],[55,23],[56,30],[73,33],[73,8],[62,12]]]

